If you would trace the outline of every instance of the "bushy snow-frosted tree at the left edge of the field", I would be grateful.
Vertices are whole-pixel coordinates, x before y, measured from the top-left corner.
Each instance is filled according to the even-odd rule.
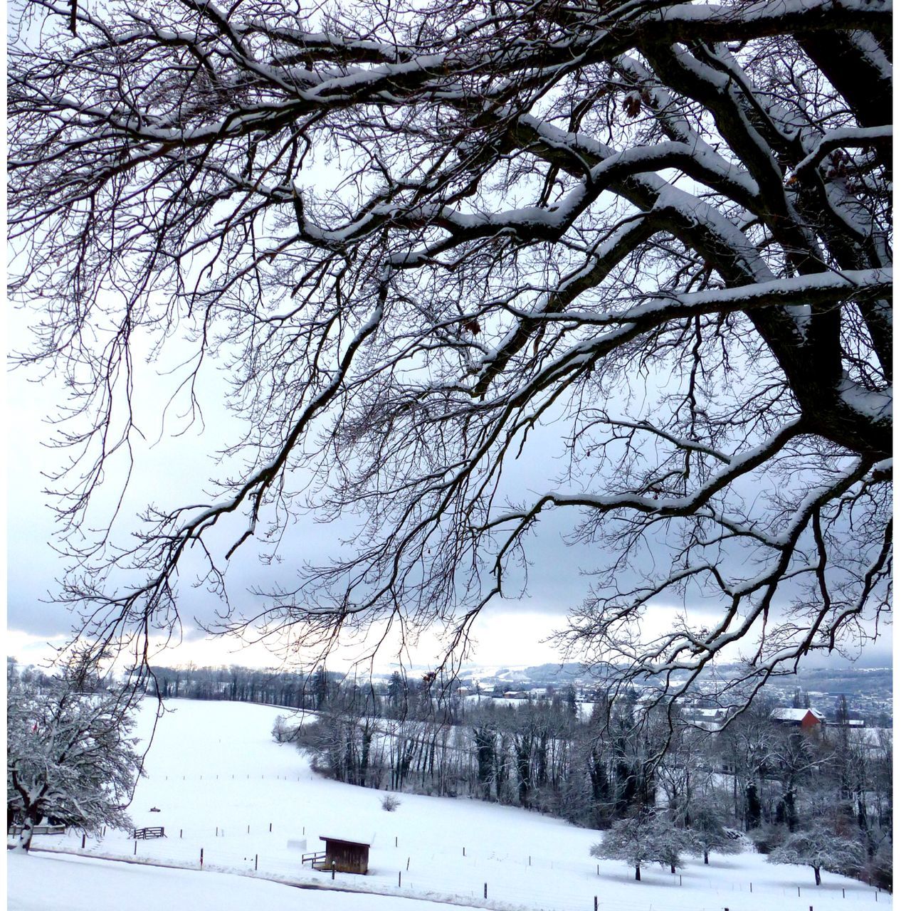
[[[141,774],[130,737],[133,691],[86,693],[67,669],[41,688],[13,678],[7,689],[7,816],[31,846],[45,816],[95,831],[127,828],[125,807]]]

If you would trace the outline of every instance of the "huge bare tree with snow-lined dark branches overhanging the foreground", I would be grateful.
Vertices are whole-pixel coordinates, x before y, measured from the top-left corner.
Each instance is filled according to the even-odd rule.
[[[619,685],[739,660],[750,692],[876,634],[890,3],[25,9],[11,292],[34,313],[21,360],[72,392],[57,486],[84,632],[141,662],[190,548],[224,594],[249,538],[353,515],[342,558],[228,626],[307,648],[442,623],[458,655],[569,514],[603,565],[562,644]],[[176,338],[173,407],[245,428],[233,476],[126,543],[92,535],[137,436],[133,359]],[[198,398],[210,364],[223,403]],[[667,603],[717,621],[643,636]]]

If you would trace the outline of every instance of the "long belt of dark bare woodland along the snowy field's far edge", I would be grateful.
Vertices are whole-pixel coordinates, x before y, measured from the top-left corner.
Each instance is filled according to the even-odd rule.
[[[643,713],[631,691],[580,717],[571,692],[510,704],[397,677],[385,690],[333,681],[315,722],[277,722],[275,736],[296,742],[315,768],[339,781],[471,795],[608,832],[627,831],[629,820],[639,821],[641,833],[651,832],[644,819],[658,829],[666,823],[686,832],[680,850],[706,864],[711,853],[737,844],[728,828],[745,830],[787,862],[799,846],[794,839],[823,824],[856,847],[827,868],[889,884],[890,732],[837,723],[801,732],[773,722],[771,708],[754,700],[708,732],[675,710]]]

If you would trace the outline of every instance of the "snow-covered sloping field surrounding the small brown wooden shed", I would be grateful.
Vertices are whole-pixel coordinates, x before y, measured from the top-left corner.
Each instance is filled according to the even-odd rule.
[[[277,911],[429,911],[441,900],[588,911],[595,896],[602,911],[862,911],[892,904],[891,896],[843,876],[824,872],[815,886],[809,867],[769,865],[757,854],[719,856],[709,866],[693,858],[680,875],[648,866],[636,883],[629,867],[589,856],[597,832],[540,814],[409,794],[387,813],[382,793],[326,781],[292,746],[272,742],[280,710],[183,700],[168,706],[173,711],[159,722],[148,778],[130,808],[137,826],[164,826],[168,837],[134,843],[108,831],[83,850],[77,834],[37,835],[36,848],[84,856],[7,853],[12,911],[120,911],[137,900],[221,911],[259,903]],[[146,710],[148,729],[151,703]],[[322,850],[320,835],[370,842],[369,875],[337,874],[333,882],[302,866],[303,853]],[[302,892],[268,880],[372,895]]]

